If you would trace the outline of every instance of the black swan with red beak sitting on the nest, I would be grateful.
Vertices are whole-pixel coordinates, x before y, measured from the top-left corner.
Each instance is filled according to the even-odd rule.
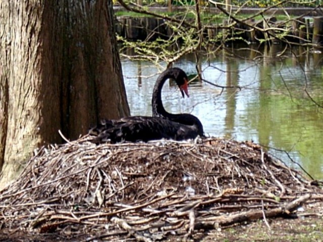
[[[179,68],[165,70],[158,77],[152,99],[153,117],[129,116],[120,119],[102,120],[96,127],[90,129],[89,135],[95,135],[94,143],[110,140],[111,143],[121,141],[150,141],[159,139],[186,140],[198,135],[204,136],[200,120],[188,113],[172,114],[165,110],[161,100],[161,89],[165,81],[173,78],[182,96],[188,93],[188,77]]]

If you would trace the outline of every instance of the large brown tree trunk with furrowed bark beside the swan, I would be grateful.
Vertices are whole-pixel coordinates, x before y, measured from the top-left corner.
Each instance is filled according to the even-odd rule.
[[[129,114],[112,1],[0,2],[2,185],[34,148]]]

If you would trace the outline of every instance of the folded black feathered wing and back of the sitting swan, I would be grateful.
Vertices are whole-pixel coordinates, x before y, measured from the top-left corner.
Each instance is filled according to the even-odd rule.
[[[97,137],[94,143],[110,141],[150,141],[159,139],[186,140],[198,136],[194,127],[181,125],[160,117],[132,116],[117,120],[105,120],[91,129]]]

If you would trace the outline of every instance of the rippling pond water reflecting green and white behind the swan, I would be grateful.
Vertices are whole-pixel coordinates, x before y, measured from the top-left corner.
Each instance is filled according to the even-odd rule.
[[[230,47],[199,56],[206,82],[190,85],[190,98],[165,85],[163,103],[169,112],[188,112],[201,120],[206,135],[252,140],[285,163],[299,163],[316,179],[323,178],[323,54],[285,46]],[[165,65],[161,64],[163,67]],[[196,75],[196,57],[189,54],[174,66]],[[151,96],[158,70],[149,62],[122,58],[131,115],[151,115]],[[315,104],[316,102],[316,104]]]

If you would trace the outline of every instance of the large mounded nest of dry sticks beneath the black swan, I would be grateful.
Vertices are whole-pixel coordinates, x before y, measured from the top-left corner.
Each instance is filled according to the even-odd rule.
[[[301,172],[251,142],[42,147],[0,194],[7,231],[65,238],[155,241],[288,215],[321,201]]]

